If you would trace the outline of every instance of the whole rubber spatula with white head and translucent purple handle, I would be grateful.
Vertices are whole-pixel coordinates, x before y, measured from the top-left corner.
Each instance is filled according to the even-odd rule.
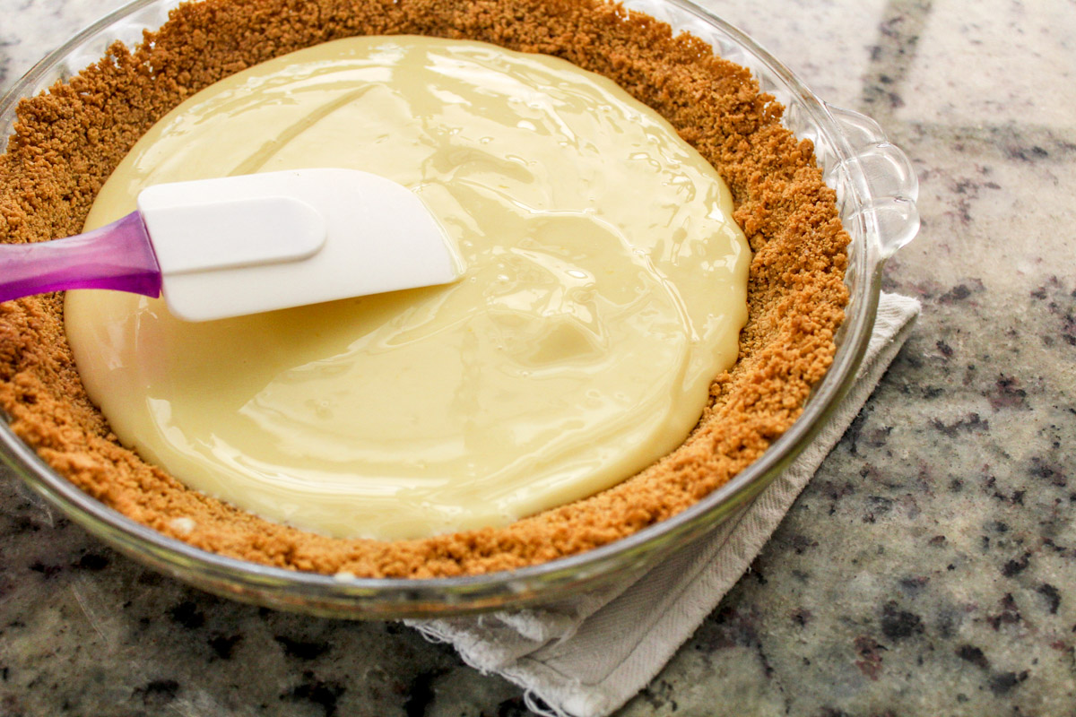
[[[344,169],[158,184],[100,229],[0,245],[0,301],[59,289],[164,295],[188,321],[447,284],[463,262],[411,191]]]

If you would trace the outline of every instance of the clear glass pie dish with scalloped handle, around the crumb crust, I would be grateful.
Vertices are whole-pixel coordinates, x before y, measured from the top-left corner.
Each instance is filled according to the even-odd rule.
[[[134,45],[142,29],[168,19],[174,0],[139,0],[103,18],[51,54],[0,100],[0,137],[15,123],[19,99],[97,61],[119,40]],[[359,578],[296,572],[195,548],[138,524],[82,492],[0,422],[0,456],[26,483],[71,519],[116,549],[202,589],[267,606],[341,617],[444,616],[551,602],[595,589],[660,562],[698,540],[763,490],[815,438],[862,361],[880,293],[886,259],[918,229],[917,183],[907,158],[867,117],[830,106],[750,38],[684,0],[626,3],[688,31],[714,52],[749,68],[762,91],[785,106],[783,123],[813,142],[826,183],[836,190],[851,236],[845,281],[850,301],[836,355],[803,414],[754,463],[692,507],[628,537],[571,557],[511,572],[431,579]]]

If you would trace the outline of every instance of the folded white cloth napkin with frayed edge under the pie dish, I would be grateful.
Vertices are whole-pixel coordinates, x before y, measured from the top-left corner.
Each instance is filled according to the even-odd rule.
[[[919,310],[915,299],[881,296],[870,345],[844,402],[795,462],[711,535],[634,582],[557,604],[408,623],[452,643],[471,666],[524,687],[536,713],[610,714],[661,671],[748,569],[863,407]]]

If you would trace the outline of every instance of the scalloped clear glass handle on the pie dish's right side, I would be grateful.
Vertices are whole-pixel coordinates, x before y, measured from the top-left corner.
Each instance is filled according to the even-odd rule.
[[[840,126],[852,149],[852,157],[843,164],[855,163],[867,190],[868,198],[856,212],[874,215],[878,226],[879,250],[882,259],[893,256],[907,245],[919,231],[919,180],[911,160],[870,117],[826,104],[830,114]],[[838,168],[833,168],[836,171]],[[870,218],[869,216],[865,218]]]

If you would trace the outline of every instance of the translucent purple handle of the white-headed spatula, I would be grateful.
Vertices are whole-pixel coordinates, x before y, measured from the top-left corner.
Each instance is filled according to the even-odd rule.
[[[60,289],[160,296],[160,267],[138,212],[77,236],[0,245],[0,301]]]

